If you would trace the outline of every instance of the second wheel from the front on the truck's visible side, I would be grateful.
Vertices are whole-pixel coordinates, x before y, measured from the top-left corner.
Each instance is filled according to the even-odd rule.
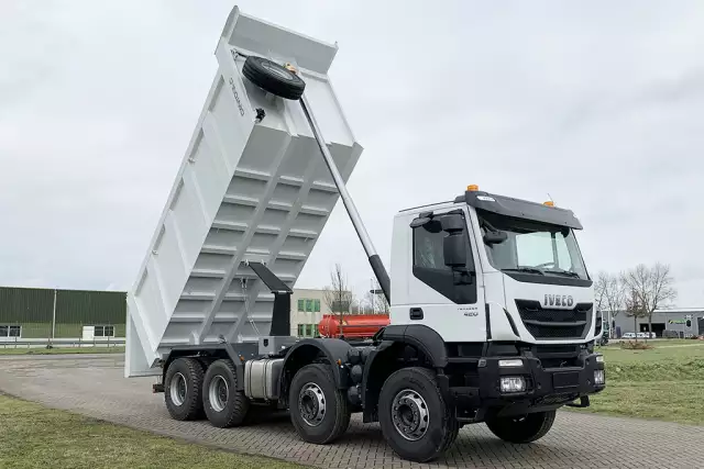
[[[294,427],[308,443],[332,443],[350,426],[350,404],[346,394],[336,387],[330,365],[311,364],[298,370],[288,403]]]

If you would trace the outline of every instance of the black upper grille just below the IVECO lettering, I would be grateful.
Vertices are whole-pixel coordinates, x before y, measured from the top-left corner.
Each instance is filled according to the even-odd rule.
[[[592,303],[558,310],[543,309],[535,300],[516,300],[516,306],[524,325],[537,339],[584,338],[592,325]]]

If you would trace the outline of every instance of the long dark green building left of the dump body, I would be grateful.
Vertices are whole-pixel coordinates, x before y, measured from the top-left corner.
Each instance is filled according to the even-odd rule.
[[[125,293],[0,287],[0,346],[124,337]]]

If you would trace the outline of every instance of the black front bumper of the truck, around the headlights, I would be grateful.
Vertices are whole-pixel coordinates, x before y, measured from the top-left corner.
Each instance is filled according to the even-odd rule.
[[[594,372],[604,370],[604,362],[598,362],[597,356],[584,350],[572,366],[560,368],[543,367],[540,358],[531,355],[483,357],[476,369],[479,388],[457,389],[453,398],[459,407],[494,409],[502,414],[559,407],[605,389],[605,381],[595,382]],[[520,360],[522,365],[501,367],[499,360]],[[502,377],[521,377],[525,390],[503,392]]]

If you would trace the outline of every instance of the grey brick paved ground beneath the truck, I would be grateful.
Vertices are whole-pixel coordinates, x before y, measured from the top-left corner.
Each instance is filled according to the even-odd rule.
[[[121,356],[0,357],[0,391],[158,434],[322,468],[695,468],[703,467],[704,427],[561,411],[552,431],[529,446],[505,444],[483,424],[465,426],[442,460],[395,457],[378,425],[354,418],[330,446],[302,443],[288,418],[220,429],[168,417],[152,379],[122,378]]]

